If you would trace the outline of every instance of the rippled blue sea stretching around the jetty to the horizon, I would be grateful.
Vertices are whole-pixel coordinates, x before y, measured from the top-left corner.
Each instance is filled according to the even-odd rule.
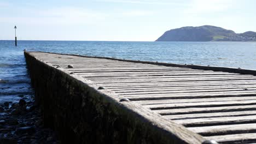
[[[0,40],[0,103],[33,94],[23,50],[256,69],[256,43]]]

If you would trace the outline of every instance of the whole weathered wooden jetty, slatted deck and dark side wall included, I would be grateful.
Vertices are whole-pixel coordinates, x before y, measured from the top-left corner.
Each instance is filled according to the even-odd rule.
[[[46,52],[25,57],[44,121],[66,141],[256,142],[254,70]]]

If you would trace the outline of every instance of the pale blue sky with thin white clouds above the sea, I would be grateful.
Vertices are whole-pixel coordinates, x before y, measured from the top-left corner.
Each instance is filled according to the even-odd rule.
[[[0,40],[154,41],[213,25],[256,32],[254,0],[0,0]]]

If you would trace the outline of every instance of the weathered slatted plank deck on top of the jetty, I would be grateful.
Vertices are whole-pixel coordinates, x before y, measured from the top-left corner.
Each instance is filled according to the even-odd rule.
[[[196,65],[167,67],[161,63],[111,58],[30,54],[96,83],[122,100],[130,100],[155,115],[184,125],[206,140],[256,142],[256,76],[249,75],[256,74],[255,71],[212,68],[243,73],[239,74],[203,70],[211,67],[192,69]]]

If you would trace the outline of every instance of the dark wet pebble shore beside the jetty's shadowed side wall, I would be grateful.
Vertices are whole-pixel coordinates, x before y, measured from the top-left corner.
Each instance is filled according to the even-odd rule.
[[[34,99],[24,95],[19,97],[19,103],[6,101],[0,104],[0,143],[61,143],[53,130],[44,128]]]

